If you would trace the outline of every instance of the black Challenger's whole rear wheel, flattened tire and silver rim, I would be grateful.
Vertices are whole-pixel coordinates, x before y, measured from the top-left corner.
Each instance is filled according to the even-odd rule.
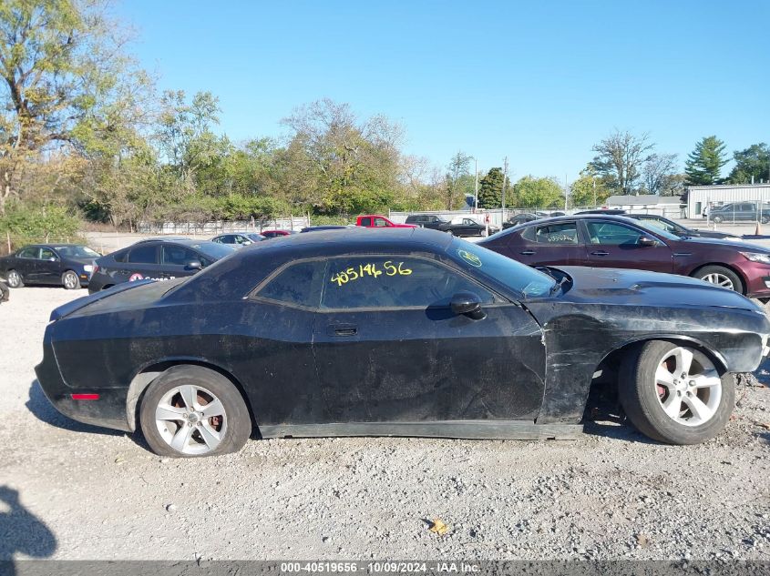
[[[207,416],[209,404],[215,408]],[[150,450],[171,458],[237,452],[252,434],[249,409],[232,382],[214,370],[189,365],[174,366],[149,385],[139,424]]]

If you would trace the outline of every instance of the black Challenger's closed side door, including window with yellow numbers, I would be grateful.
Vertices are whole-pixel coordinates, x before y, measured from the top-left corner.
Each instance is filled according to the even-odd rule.
[[[486,318],[449,301],[473,292]],[[313,325],[323,406],[332,422],[534,419],[545,350],[517,304],[428,258],[331,258]]]

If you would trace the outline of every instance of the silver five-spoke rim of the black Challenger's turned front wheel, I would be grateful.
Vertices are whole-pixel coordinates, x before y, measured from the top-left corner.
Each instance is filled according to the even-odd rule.
[[[722,379],[714,363],[682,347],[661,359],[655,388],[663,411],[684,426],[701,426],[714,418],[722,400]]]

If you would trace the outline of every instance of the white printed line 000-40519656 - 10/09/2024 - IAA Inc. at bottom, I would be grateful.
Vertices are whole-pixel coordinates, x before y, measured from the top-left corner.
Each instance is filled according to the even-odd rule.
[[[282,574],[299,573],[354,573],[365,574],[430,574],[475,573],[478,564],[465,561],[367,561],[367,562],[282,562]]]

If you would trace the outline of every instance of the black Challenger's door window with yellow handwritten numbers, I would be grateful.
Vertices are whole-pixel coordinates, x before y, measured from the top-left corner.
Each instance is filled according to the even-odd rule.
[[[323,278],[321,308],[447,307],[457,292],[495,301],[473,280],[421,258],[334,258]]]

